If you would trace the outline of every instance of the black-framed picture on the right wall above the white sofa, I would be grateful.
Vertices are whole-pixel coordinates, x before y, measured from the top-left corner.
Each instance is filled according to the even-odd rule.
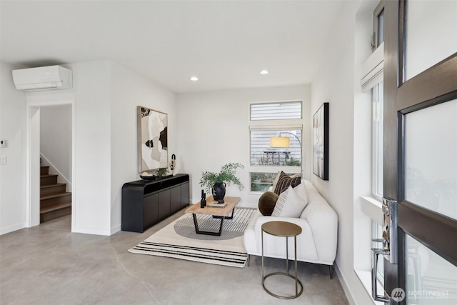
[[[328,103],[313,114],[313,174],[328,180]]]

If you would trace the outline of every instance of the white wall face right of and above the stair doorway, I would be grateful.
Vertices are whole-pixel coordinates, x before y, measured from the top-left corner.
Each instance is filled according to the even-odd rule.
[[[111,66],[110,61],[66,65],[73,71],[73,89],[31,92],[29,105],[75,101],[72,231],[111,234]]]

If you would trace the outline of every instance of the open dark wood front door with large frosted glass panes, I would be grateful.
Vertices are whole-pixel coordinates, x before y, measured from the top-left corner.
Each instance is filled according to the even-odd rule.
[[[418,6],[408,11],[416,2],[385,6],[383,181],[384,197],[398,202],[398,264],[384,260],[384,289],[391,304],[456,304],[457,44],[426,37],[442,20],[431,10],[419,16]],[[449,14],[457,20],[457,10]]]

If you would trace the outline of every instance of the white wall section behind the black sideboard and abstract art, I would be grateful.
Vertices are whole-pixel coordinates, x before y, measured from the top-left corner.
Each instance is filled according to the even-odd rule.
[[[176,154],[178,118],[172,91],[115,63],[111,63],[111,92],[111,233],[114,233],[121,229],[122,186],[140,179],[136,106],[146,106],[168,114],[169,159],[171,154]]]

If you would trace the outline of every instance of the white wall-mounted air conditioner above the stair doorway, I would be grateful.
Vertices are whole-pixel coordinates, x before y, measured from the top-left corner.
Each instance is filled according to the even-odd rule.
[[[73,88],[73,72],[63,66],[13,70],[13,80],[18,90],[44,91]]]

